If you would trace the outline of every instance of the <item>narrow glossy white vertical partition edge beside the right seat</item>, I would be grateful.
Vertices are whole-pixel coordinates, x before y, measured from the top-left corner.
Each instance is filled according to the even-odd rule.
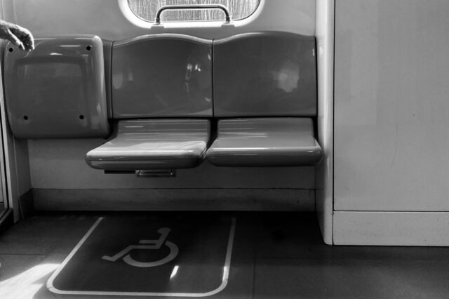
[[[323,239],[332,244],[334,0],[316,2],[318,137],[324,158],[316,167],[316,211]]]

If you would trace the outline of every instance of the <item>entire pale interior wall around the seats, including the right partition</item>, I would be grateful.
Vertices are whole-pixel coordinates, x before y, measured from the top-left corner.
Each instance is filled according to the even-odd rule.
[[[326,152],[316,168],[218,168],[206,161],[178,171],[176,178],[135,178],[87,166],[86,152],[105,140],[18,140],[3,126],[9,175],[4,182],[15,218],[18,198],[32,190],[37,208],[53,210],[316,209],[328,244],[447,246],[448,60],[441,49],[448,40],[441,36],[448,29],[448,4],[283,4],[262,0],[255,14],[230,26],[178,23],[161,29],[135,18],[124,0],[2,1],[4,19],[28,27],[36,37],[91,33],[122,40],[178,32],[217,39],[259,30],[314,35],[315,121]]]

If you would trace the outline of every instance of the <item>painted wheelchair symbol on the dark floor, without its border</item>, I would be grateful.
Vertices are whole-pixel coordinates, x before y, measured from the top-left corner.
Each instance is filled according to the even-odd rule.
[[[170,231],[171,230],[168,227],[162,227],[159,230],[157,230],[157,232],[161,234],[161,237],[159,237],[159,239],[140,240],[139,244],[142,245],[130,245],[125,249],[123,249],[122,251],[120,251],[119,253],[117,253],[116,255],[113,256],[103,255],[102,259],[109,260],[109,262],[115,262],[116,260],[119,260],[119,258],[123,258],[123,261],[125,263],[134,267],[156,267],[168,263],[170,262],[170,260],[173,260],[173,258],[175,258],[178,253],[177,246],[170,241],[166,241],[168,233]],[[165,244],[168,247],[168,249],[170,249],[170,253],[168,253],[168,255],[161,260],[156,260],[154,262],[139,262],[138,260],[134,260],[129,254],[129,252],[134,249],[160,249],[163,244]]]

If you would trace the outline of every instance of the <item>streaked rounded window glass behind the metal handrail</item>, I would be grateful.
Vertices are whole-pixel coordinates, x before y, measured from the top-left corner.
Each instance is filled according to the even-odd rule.
[[[247,18],[254,13],[260,0],[128,0],[131,10],[140,18],[154,21],[159,8],[166,5],[222,4],[229,10],[232,20]],[[193,9],[164,11],[163,22],[215,21],[225,20],[225,13],[219,9]]]

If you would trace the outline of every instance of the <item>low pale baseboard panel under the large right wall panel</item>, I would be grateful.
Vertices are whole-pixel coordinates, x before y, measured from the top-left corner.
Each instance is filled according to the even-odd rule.
[[[336,245],[449,246],[449,213],[335,212]]]

